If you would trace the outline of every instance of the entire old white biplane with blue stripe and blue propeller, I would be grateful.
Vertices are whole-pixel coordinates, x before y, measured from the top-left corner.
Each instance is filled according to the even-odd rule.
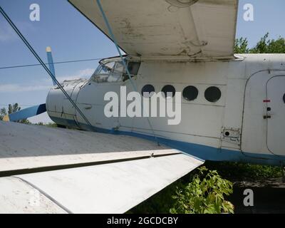
[[[6,120],[47,111],[78,130],[0,122],[0,212],[120,213],[204,160],[284,165],[285,55],[234,54],[237,0],[69,2],[125,55],[58,83],[47,48],[46,104]],[[106,117],[121,86],[181,92],[180,124]]]

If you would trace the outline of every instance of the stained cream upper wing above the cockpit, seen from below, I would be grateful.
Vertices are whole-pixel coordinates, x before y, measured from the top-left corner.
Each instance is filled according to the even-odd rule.
[[[96,1],[68,1],[110,37]],[[101,2],[118,45],[128,54],[233,58],[238,0],[187,1]]]

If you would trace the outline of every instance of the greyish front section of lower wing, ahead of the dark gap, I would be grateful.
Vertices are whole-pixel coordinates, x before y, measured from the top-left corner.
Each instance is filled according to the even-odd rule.
[[[177,153],[155,142],[0,121],[0,172]]]

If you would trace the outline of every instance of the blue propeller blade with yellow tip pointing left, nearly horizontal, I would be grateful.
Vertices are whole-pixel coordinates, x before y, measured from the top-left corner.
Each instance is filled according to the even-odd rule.
[[[19,120],[24,120],[35,115],[39,115],[41,113],[46,112],[46,104],[36,105],[30,108],[25,108],[23,110],[19,110],[16,113],[11,113],[9,115],[4,116],[4,121],[12,121],[16,122]]]

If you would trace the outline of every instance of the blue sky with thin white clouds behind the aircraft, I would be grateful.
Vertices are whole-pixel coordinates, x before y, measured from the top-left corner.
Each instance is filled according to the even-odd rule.
[[[30,21],[29,6],[38,4],[41,20]],[[254,21],[243,19],[244,4],[254,6]],[[53,49],[54,61],[115,56],[115,46],[66,0],[0,0],[14,24],[18,26],[36,52],[46,61],[46,46]],[[253,46],[268,31],[271,38],[285,37],[284,0],[240,0],[237,37],[247,37]],[[37,63],[24,43],[0,15],[0,67]],[[90,77],[97,61],[56,65],[56,76]],[[46,102],[52,82],[41,66],[0,69],[0,108],[19,103],[23,108]],[[48,122],[46,114],[31,119]]]

